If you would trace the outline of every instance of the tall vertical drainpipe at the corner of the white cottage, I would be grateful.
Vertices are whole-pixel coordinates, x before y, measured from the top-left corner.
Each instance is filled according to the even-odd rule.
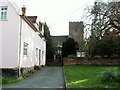
[[[21,36],[22,36],[22,18],[20,16],[20,33],[19,33],[19,65],[18,65],[18,78],[20,78],[21,75],[21,67],[20,67],[20,62],[21,62]]]

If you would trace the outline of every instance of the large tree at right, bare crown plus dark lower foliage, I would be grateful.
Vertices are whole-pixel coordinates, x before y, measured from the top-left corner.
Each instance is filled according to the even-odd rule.
[[[89,38],[89,52],[96,54],[96,53],[103,53],[100,51],[102,49],[101,47],[106,44],[107,50],[109,48],[109,51],[111,50],[111,53],[109,52],[109,55],[113,54],[119,47],[117,44],[117,41],[119,39],[116,39],[116,37],[120,37],[120,1],[116,2],[101,2],[96,1],[92,7],[89,7],[88,9],[88,19],[91,18],[91,23],[86,23],[89,26],[91,35]],[[112,36],[115,36],[115,38],[110,39],[107,34],[114,34]],[[107,35],[107,38],[105,38],[105,35]],[[113,40],[115,39],[115,40]],[[114,45],[116,45],[114,50],[111,49],[112,44],[108,43],[111,40],[116,41],[114,42]],[[106,42],[107,41],[107,42]],[[111,44],[111,45],[110,45]],[[103,47],[105,48],[105,47]],[[106,52],[104,51],[104,52]],[[104,54],[104,53],[103,53]],[[108,52],[107,52],[108,54]]]

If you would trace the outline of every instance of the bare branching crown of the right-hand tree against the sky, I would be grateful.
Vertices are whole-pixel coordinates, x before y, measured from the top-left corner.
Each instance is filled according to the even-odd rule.
[[[89,24],[92,37],[101,38],[104,33],[113,28],[120,30],[120,1],[96,1],[94,6],[87,8],[87,10],[87,17],[92,19],[91,24]]]

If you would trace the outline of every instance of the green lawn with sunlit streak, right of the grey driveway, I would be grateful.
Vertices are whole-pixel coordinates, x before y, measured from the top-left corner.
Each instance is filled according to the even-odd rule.
[[[102,71],[118,71],[118,66],[66,65],[64,70],[67,88],[120,88],[118,83],[100,81]]]

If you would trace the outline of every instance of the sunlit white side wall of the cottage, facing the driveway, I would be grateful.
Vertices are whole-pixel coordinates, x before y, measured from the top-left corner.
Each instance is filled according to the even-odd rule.
[[[39,65],[39,56],[36,57],[36,48],[41,50],[40,64],[45,65],[45,55],[42,56],[42,51],[45,52],[45,41],[38,36],[23,19],[22,19],[22,34],[21,34],[21,67],[31,67],[34,65]],[[24,42],[28,43],[28,55],[23,55]],[[44,57],[44,58],[42,58]]]

